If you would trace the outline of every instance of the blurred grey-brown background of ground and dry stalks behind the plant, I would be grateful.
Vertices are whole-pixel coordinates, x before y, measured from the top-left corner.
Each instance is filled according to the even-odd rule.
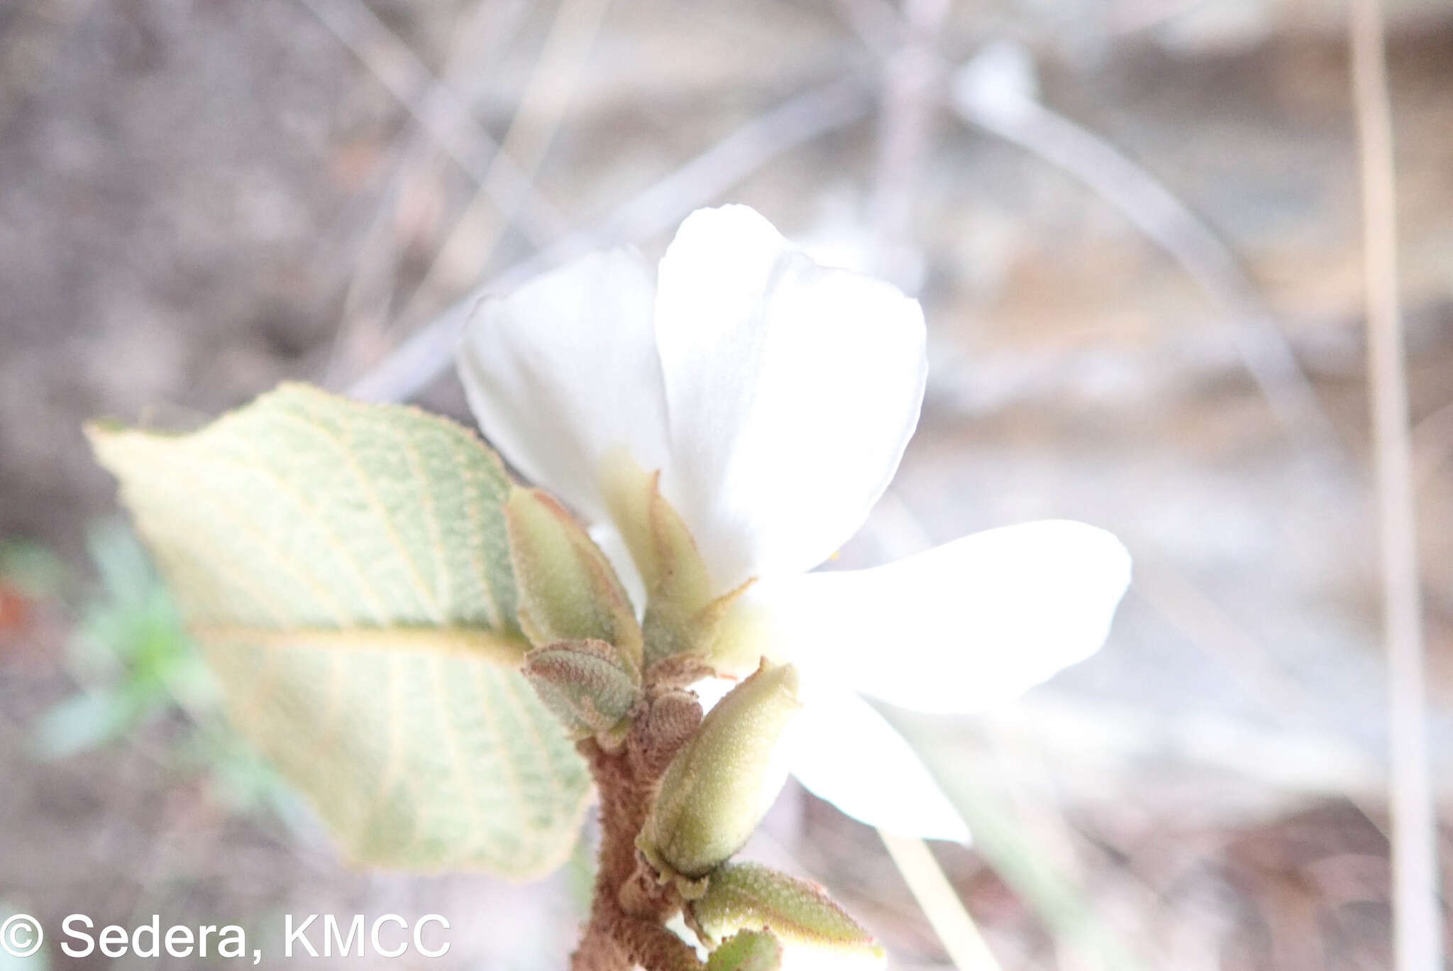
[[[1003,967],[1388,967],[1344,38],[1327,0],[0,0],[0,911],[240,923],[264,964],[283,913],[442,913],[420,967],[562,968],[584,850],[527,887],[340,866],[80,424],[283,378],[466,419],[475,288],[740,201],[927,311],[923,423],[843,564],[1043,516],[1135,554],[1093,660],[991,717],[888,712],[971,821],[936,853]],[[1393,3],[1389,61],[1447,807],[1446,4]],[[789,789],[748,855],[949,967],[830,805]]]

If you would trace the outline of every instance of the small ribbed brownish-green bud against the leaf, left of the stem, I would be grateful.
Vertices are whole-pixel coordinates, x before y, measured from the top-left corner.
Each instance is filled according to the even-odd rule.
[[[636,701],[638,685],[604,641],[558,641],[525,656],[525,676],[575,738],[610,736]],[[619,734],[619,733],[618,733]]]

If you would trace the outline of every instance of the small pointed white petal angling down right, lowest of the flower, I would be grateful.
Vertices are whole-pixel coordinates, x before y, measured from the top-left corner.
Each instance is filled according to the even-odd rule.
[[[969,842],[912,747],[857,695],[809,689],[783,746],[798,781],[847,815],[898,836]]]

